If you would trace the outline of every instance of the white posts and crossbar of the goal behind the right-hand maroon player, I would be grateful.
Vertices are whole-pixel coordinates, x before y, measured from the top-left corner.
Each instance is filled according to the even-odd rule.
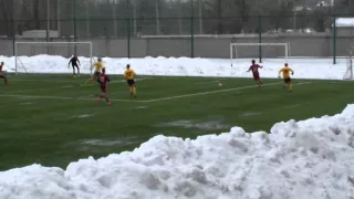
[[[237,46],[284,46],[284,57],[285,57],[287,62],[289,62],[290,43],[230,43],[231,65],[232,65],[232,61],[235,59],[233,57],[233,49],[235,49],[236,59],[238,59]]]

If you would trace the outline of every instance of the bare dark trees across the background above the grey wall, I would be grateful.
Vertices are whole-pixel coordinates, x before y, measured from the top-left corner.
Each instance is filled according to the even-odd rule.
[[[0,35],[55,30],[61,36],[324,32],[352,0],[0,0]],[[321,4],[324,3],[324,4]],[[48,22],[49,19],[49,22]]]

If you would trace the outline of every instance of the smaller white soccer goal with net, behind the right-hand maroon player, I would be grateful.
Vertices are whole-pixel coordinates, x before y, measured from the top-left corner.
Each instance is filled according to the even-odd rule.
[[[230,43],[231,66],[237,61],[259,60],[260,63],[289,63],[290,43]]]

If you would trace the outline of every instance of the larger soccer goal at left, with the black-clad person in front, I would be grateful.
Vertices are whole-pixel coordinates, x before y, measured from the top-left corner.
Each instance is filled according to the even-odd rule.
[[[15,42],[14,72],[18,73],[72,73],[70,59],[76,55],[81,73],[92,74],[92,42]]]

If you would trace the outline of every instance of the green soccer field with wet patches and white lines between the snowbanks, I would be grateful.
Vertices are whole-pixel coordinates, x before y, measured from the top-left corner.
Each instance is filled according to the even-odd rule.
[[[65,168],[70,161],[132,150],[155,135],[195,138],[266,130],[281,121],[340,113],[354,102],[352,82],[144,76],[132,100],[122,76],[112,76],[113,105],[96,103],[97,83],[87,76],[17,75],[1,90],[0,170],[33,163]],[[81,86],[79,86],[81,84]]]

